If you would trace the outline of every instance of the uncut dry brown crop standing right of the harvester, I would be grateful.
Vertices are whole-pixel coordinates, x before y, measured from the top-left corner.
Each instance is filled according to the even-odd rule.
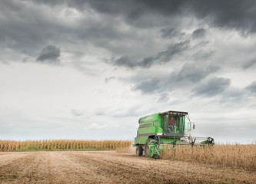
[[[162,151],[161,159],[191,161],[256,171],[256,144],[216,146],[175,146]]]

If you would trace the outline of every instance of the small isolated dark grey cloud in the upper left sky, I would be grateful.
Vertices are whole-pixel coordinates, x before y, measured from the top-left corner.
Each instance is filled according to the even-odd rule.
[[[61,55],[60,48],[56,48],[54,45],[48,45],[39,53],[36,61],[50,61],[50,62],[58,62],[58,58]]]

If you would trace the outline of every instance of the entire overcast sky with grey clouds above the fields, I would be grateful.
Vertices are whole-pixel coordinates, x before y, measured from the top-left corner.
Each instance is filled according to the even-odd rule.
[[[0,0],[0,139],[133,140],[188,111],[193,136],[256,140],[255,1]]]

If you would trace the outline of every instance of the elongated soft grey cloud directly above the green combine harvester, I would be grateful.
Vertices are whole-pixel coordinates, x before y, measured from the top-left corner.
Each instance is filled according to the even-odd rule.
[[[178,88],[194,87],[194,84],[202,81],[205,77],[214,74],[219,71],[221,67],[208,65],[202,67],[196,63],[184,64],[181,70],[178,72],[172,72],[171,74],[143,74],[131,77],[131,82],[135,83],[131,90],[140,90],[143,94],[151,94],[158,92],[161,96],[159,100],[168,99],[168,92],[176,90]],[[218,80],[218,78],[216,79]],[[214,80],[211,81],[214,83]]]

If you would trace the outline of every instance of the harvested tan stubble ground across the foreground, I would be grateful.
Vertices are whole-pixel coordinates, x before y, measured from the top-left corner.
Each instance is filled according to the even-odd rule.
[[[0,183],[256,183],[256,173],[116,151],[2,152]]]

